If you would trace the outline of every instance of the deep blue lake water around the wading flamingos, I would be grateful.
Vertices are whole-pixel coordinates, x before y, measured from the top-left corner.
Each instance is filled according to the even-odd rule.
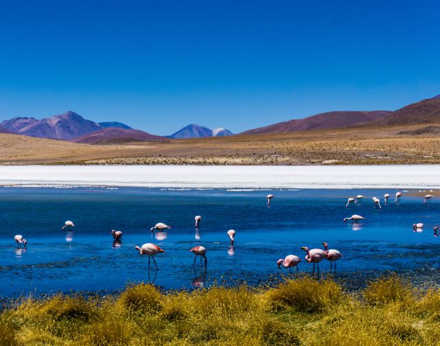
[[[383,205],[383,195],[392,195]],[[393,203],[395,189],[257,190],[147,188],[0,188],[0,296],[39,295],[56,291],[113,292],[128,283],[153,281],[162,288],[194,288],[214,281],[259,284],[279,277],[276,261],[305,253],[301,246],[329,243],[344,258],[338,277],[357,285],[388,270],[410,279],[435,282],[440,271],[440,200],[423,204],[423,197],[406,192]],[[267,208],[267,194],[274,194]],[[363,194],[362,204],[347,208],[347,198]],[[381,198],[375,209],[371,196]],[[342,218],[360,214],[366,220],[344,224]],[[195,231],[194,216],[203,220]],[[74,231],[61,231],[73,220]],[[173,228],[151,233],[157,222]],[[412,224],[423,222],[422,232]],[[122,231],[122,244],[111,230]],[[236,230],[234,246],[226,235]],[[28,240],[17,249],[14,235]],[[135,245],[153,242],[166,253],[157,255],[159,270]],[[208,249],[208,266],[192,266],[193,246]],[[198,262],[199,264],[199,262]],[[300,273],[310,273],[303,262]],[[321,262],[328,275],[329,262]]]

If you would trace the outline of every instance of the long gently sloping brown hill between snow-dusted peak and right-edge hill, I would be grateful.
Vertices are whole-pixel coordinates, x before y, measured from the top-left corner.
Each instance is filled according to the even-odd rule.
[[[306,117],[304,119],[293,119],[270,126],[254,128],[252,130],[241,132],[240,135],[344,128],[355,124],[384,119],[392,114],[393,112],[391,111],[334,111],[312,115],[311,117]]]

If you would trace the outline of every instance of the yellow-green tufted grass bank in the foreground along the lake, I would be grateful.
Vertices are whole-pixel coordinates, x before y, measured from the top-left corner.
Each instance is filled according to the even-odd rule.
[[[439,345],[440,290],[391,276],[358,294],[331,280],[274,288],[25,299],[0,315],[0,345]]]

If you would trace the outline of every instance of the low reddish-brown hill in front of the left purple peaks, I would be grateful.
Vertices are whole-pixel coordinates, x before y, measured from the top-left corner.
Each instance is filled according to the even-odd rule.
[[[104,128],[72,139],[75,143],[122,143],[127,141],[169,140],[166,137],[151,135],[140,130],[125,128]]]

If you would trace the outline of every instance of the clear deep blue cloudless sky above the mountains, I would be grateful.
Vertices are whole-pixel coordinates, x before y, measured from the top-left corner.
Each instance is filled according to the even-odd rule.
[[[0,119],[240,132],[440,93],[437,1],[0,0]]]

